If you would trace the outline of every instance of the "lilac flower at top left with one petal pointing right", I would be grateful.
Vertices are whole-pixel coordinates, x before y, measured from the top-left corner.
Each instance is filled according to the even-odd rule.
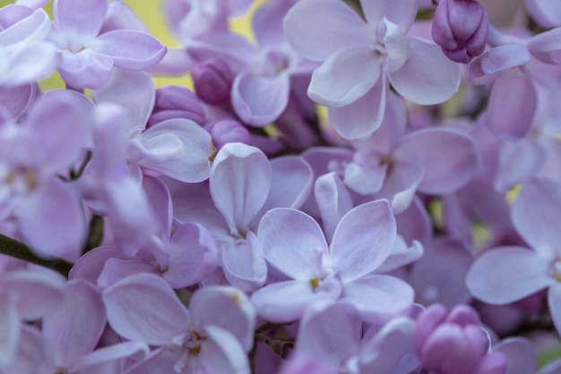
[[[166,48],[136,30],[99,34],[108,13],[107,0],[56,0],[55,29],[50,39],[59,51],[58,72],[73,89],[99,89],[113,67],[143,70],[156,65]]]

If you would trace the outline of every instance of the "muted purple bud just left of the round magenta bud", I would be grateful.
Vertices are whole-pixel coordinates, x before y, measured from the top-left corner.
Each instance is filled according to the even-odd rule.
[[[170,118],[191,119],[203,125],[205,120],[203,105],[194,92],[184,87],[162,87],[156,90],[156,102],[148,119],[148,126]]]

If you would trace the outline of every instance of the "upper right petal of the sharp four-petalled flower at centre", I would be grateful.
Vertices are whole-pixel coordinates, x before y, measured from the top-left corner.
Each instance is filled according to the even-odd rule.
[[[387,200],[358,205],[345,214],[333,234],[330,262],[343,282],[381,265],[395,241],[395,219]]]

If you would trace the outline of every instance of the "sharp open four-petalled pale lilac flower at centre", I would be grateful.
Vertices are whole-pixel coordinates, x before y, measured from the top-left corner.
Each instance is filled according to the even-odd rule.
[[[258,239],[269,265],[287,281],[252,294],[260,317],[289,322],[318,300],[341,300],[375,319],[410,307],[409,284],[372,274],[390,254],[395,220],[387,201],[359,205],[341,218],[328,246],[315,220],[294,209],[265,213]]]

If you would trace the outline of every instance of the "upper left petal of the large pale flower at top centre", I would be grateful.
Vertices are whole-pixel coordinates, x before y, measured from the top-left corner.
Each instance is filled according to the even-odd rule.
[[[338,0],[306,0],[294,5],[284,19],[292,48],[302,57],[324,61],[345,48],[367,48],[367,23]]]

